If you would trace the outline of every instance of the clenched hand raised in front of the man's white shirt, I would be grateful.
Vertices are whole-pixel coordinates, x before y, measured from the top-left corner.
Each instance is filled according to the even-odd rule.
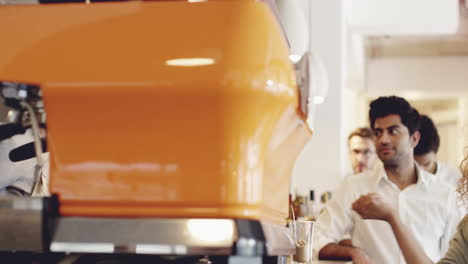
[[[389,222],[396,215],[395,209],[375,193],[361,195],[354,201],[353,210],[364,219],[376,219]]]

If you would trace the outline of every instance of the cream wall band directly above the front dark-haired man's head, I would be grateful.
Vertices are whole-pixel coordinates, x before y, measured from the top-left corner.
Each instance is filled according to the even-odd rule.
[[[368,63],[369,94],[447,97],[468,92],[468,57],[386,58]]]

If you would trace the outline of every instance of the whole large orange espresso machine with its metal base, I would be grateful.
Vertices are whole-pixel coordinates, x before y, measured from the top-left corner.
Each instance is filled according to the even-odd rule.
[[[50,196],[1,198],[1,251],[294,253],[308,89],[272,2],[29,1],[0,6],[0,89],[46,127]]]

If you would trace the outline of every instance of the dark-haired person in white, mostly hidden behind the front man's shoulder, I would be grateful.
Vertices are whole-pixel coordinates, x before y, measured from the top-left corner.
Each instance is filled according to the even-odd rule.
[[[414,159],[418,165],[435,175],[437,181],[446,182],[456,187],[458,180],[462,177],[461,171],[437,161],[440,137],[434,122],[426,115],[421,115],[421,128],[419,129],[421,139],[414,148]]]

